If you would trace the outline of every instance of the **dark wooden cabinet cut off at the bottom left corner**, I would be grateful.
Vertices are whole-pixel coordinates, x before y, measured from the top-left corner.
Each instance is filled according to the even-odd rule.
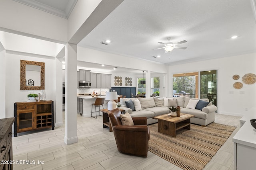
[[[0,170],[12,170],[12,124],[14,117],[0,119]]]

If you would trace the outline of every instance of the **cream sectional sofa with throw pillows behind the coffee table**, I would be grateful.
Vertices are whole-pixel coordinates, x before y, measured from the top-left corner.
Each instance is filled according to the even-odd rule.
[[[129,100],[137,100],[133,102],[135,104],[135,110],[126,106],[125,102],[128,102]],[[120,108],[124,109],[125,112],[130,113],[131,117],[147,117],[149,125],[157,122],[157,119],[152,119],[152,117],[170,113],[170,109],[168,108],[169,103],[171,102],[173,104],[173,102],[175,103],[175,100],[176,104],[181,108],[181,113],[195,115],[195,117],[191,118],[191,123],[206,126],[209,123],[214,122],[217,107],[213,106],[212,103],[203,107],[202,110],[186,108],[189,100],[209,102],[208,99],[185,98],[184,96],[178,98],[120,98]]]

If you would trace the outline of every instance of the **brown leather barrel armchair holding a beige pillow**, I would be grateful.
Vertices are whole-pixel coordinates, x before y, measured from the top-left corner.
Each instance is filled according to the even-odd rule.
[[[133,126],[123,126],[120,109],[113,109],[108,117],[114,131],[118,151],[136,156],[148,156],[149,127],[146,117],[132,117]]]

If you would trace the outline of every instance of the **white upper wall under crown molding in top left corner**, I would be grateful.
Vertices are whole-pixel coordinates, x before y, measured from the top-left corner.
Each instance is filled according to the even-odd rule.
[[[18,31],[22,35],[35,35],[55,42],[67,42],[68,20],[42,10],[12,1],[1,0],[0,27]]]

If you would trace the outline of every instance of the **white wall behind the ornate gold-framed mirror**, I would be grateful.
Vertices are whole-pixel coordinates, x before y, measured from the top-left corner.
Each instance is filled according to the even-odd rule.
[[[0,63],[6,65],[6,117],[14,117],[14,103],[28,100],[29,93],[40,93],[40,90],[20,90],[20,60],[37,61],[45,63],[45,92],[46,100],[55,102],[55,58],[43,59],[24,55],[6,53],[5,62],[1,59]],[[0,98],[0,103],[3,99]]]

